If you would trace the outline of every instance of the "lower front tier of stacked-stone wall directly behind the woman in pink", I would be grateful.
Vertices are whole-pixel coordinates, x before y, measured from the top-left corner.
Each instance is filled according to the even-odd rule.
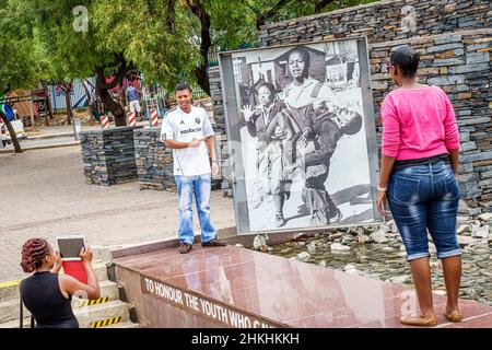
[[[461,199],[471,207],[481,205],[488,209],[492,208],[491,43],[492,30],[479,30],[373,44],[370,49],[378,135],[380,103],[394,88],[387,73],[389,52],[409,44],[421,55],[420,82],[441,86],[455,108],[461,138],[458,176]]]

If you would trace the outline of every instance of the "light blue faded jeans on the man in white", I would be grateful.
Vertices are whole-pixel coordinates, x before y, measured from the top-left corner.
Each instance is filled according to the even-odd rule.
[[[215,238],[215,229],[210,221],[211,175],[176,175],[175,178],[179,195],[179,242],[194,244],[194,194],[201,228],[201,242]]]

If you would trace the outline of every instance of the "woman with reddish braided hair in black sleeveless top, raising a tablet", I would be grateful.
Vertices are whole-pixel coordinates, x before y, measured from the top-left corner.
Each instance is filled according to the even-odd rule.
[[[36,320],[36,328],[79,328],[72,312],[72,295],[90,300],[101,296],[91,248],[82,248],[79,256],[87,273],[87,284],[71,276],[58,275],[60,254],[47,241],[32,238],[22,246],[22,269],[34,273],[21,282],[21,295]]]

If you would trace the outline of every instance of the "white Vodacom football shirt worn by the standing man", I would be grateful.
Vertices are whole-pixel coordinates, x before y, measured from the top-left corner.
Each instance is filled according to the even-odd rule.
[[[207,112],[191,106],[190,113],[181,108],[171,109],[164,117],[161,127],[161,141],[176,140],[190,142],[194,138],[204,139],[213,136]],[[204,141],[197,148],[174,149],[174,175],[196,176],[210,174],[209,150]]]

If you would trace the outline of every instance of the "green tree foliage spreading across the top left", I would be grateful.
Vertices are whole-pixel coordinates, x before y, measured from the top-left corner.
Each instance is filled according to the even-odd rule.
[[[31,86],[37,79],[70,81],[124,57],[149,83],[173,88],[196,81],[201,23],[191,7],[210,15],[212,45],[220,50],[258,44],[258,23],[371,2],[338,0],[0,0],[0,84]],[[329,2],[329,1],[328,1]],[[73,9],[89,13],[89,31],[73,28]],[[14,54],[13,54],[14,52]],[[0,89],[1,90],[1,89]]]

